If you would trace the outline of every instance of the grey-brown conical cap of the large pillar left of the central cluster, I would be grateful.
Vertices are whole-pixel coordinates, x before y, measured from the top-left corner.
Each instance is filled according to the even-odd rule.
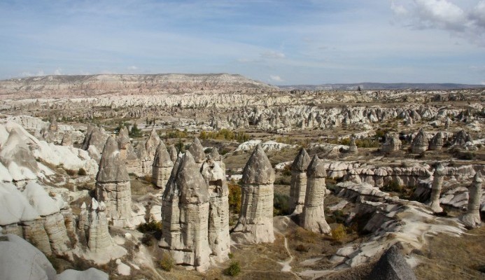
[[[108,137],[104,145],[96,181],[101,183],[129,181],[125,162],[120,159],[120,150],[118,150],[118,144],[113,137]]]

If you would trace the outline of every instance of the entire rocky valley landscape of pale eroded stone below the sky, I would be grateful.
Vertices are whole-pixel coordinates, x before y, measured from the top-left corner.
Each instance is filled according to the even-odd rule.
[[[482,88],[94,75],[0,96],[0,279],[434,279],[449,244],[473,260],[450,279],[485,276]]]

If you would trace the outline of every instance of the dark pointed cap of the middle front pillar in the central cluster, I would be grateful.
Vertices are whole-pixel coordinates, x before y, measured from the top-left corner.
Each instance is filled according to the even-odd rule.
[[[185,152],[180,167],[178,167],[176,184],[180,189],[180,201],[182,203],[209,202],[209,190],[206,181],[204,176],[200,174],[199,166],[195,163],[189,151]]]

